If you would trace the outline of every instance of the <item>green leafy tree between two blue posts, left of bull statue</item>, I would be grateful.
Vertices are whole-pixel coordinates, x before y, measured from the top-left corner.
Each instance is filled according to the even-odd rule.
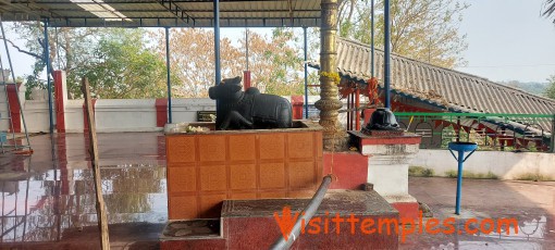
[[[145,35],[144,29],[126,28],[101,35],[94,57],[75,75],[86,76],[92,91],[103,99],[164,97],[165,62],[149,50]]]

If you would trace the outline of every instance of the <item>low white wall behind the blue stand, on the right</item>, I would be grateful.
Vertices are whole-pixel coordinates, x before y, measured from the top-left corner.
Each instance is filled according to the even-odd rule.
[[[421,149],[410,165],[431,168],[439,176],[445,176],[447,171],[457,171],[457,161],[448,150]],[[526,174],[555,179],[555,153],[476,151],[464,163],[464,171],[474,174],[491,172],[502,179],[518,179]]]

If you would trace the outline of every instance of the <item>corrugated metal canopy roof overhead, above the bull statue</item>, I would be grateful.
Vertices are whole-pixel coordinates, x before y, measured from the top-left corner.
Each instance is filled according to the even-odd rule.
[[[220,0],[222,27],[314,27],[320,26],[321,0]],[[37,21],[49,18],[51,26],[90,27],[212,27],[212,0],[103,0],[78,1],[99,7],[97,14],[113,14],[100,4],[108,4],[130,20],[110,22],[72,0],[13,0],[0,2],[3,21]],[[104,16],[104,17],[106,17]]]

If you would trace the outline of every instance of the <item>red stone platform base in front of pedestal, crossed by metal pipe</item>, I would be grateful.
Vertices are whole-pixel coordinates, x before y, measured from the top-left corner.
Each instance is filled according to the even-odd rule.
[[[309,199],[225,200],[218,237],[161,239],[161,249],[269,249],[278,220],[294,218]],[[276,220],[278,218],[278,220]],[[293,249],[397,249],[398,212],[375,191],[331,190]]]

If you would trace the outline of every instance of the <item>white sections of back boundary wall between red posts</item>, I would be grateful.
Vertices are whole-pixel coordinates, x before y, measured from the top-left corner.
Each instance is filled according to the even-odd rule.
[[[20,90],[21,91],[21,90]],[[24,90],[23,90],[24,91]],[[24,92],[22,92],[24,95]],[[23,112],[29,133],[48,132],[49,114],[46,90],[34,90],[35,100],[22,103]],[[284,97],[291,100],[291,97]],[[320,97],[310,96],[309,103],[313,104]],[[65,100],[65,132],[83,133],[84,100]],[[345,100],[343,100],[345,102]],[[55,103],[55,101],[53,101]],[[344,105],[344,109],[346,105]],[[172,122],[196,122],[197,111],[214,111],[215,101],[209,98],[174,98],[172,99]],[[95,104],[95,118],[98,132],[153,132],[162,130],[157,127],[155,99],[98,99]],[[340,114],[340,121],[346,124],[346,113]],[[54,109],[55,124],[55,109]]]

